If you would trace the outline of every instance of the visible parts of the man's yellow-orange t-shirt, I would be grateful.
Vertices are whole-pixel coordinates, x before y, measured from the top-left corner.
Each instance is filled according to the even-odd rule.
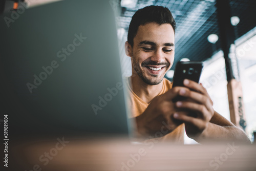
[[[150,103],[146,103],[145,101],[143,101],[141,98],[139,98],[131,89],[128,79],[127,79],[127,87],[129,90],[129,99],[127,101],[128,105],[129,105],[129,109],[131,112],[131,116],[132,117],[137,117],[139,115],[141,115],[147,108],[148,104]],[[167,80],[166,78],[163,79],[163,88],[161,90],[161,92],[158,94],[164,94],[165,92],[167,92],[169,89],[172,89],[172,82],[170,82],[169,80]],[[172,141],[174,143],[180,143],[180,144],[184,144],[184,123],[179,125],[173,132],[163,136],[162,138],[158,139],[161,141]]]

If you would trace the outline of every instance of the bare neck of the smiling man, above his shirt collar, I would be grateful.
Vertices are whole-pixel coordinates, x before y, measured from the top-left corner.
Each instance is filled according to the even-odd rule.
[[[145,83],[138,75],[129,77],[129,84],[133,92],[146,103],[150,103],[163,88],[163,81],[157,85]]]

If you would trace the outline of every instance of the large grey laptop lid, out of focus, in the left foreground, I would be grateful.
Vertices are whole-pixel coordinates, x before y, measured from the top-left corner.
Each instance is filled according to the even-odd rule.
[[[111,3],[61,1],[18,12],[0,23],[1,114],[12,134],[126,135]]]

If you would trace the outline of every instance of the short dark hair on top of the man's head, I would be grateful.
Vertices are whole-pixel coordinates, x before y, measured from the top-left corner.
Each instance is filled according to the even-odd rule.
[[[133,39],[137,34],[139,26],[143,26],[148,23],[157,23],[159,25],[170,24],[173,27],[174,32],[176,29],[174,17],[168,8],[152,5],[139,9],[133,15],[128,30],[127,41],[132,47],[134,43]]]

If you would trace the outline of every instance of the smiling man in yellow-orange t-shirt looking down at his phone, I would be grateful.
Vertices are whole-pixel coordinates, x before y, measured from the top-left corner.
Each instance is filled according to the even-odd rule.
[[[172,89],[172,82],[164,78],[174,62],[175,28],[172,13],[164,7],[148,6],[132,17],[125,53],[132,60],[127,86],[136,137],[184,143],[185,129],[188,137],[198,142],[250,142],[242,130],[214,111],[202,84],[184,80],[186,87]],[[186,100],[173,102],[177,96]]]

